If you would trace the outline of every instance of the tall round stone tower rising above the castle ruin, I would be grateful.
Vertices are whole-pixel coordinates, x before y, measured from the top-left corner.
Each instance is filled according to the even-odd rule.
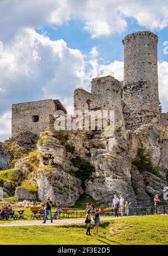
[[[150,31],[125,36],[123,113],[127,129],[158,123],[157,35]]]

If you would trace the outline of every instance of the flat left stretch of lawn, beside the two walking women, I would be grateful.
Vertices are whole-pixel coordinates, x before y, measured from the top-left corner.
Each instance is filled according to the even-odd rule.
[[[0,227],[0,244],[109,244],[105,234],[109,225],[110,222],[101,224],[100,237],[86,236],[85,224]]]

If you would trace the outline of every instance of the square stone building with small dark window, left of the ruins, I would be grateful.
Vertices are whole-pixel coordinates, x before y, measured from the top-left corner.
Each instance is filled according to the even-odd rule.
[[[12,105],[12,134],[30,131],[39,134],[53,127],[53,100],[32,101]]]

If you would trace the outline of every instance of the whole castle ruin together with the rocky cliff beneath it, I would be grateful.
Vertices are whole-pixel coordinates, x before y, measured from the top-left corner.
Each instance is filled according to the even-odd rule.
[[[85,131],[82,125],[78,131],[55,131],[55,120],[63,120],[67,113],[59,100],[12,105],[12,137],[0,143],[0,170],[10,169],[15,180],[26,179],[38,190],[30,193],[9,176],[11,188],[2,184],[6,197],[15,193],[19,200],[44,201],[50,196],[53,202],[59,198],[68,204],[70,177],[73,204],[86,194],[99,205],[111,206],[114,194],[122,193],[133,202],[132,214],[142,215],[148,212],[151,197],[164,198],[168,113],[161,113],[158,99],[157,41],[150,31],[125,36],[124,81],[98,77],[92,80],[90,92],[74,91],[79,117],[83,112],[113,112],[113,131],[110,125],[103,131]],[[70,120],[77,122],[74,117]]]

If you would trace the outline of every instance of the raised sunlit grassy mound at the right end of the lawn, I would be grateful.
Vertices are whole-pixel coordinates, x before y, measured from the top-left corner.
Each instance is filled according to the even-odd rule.
[[[138,216],[118,219],[110,238],[122,244],[168,244],[168,216]]]

